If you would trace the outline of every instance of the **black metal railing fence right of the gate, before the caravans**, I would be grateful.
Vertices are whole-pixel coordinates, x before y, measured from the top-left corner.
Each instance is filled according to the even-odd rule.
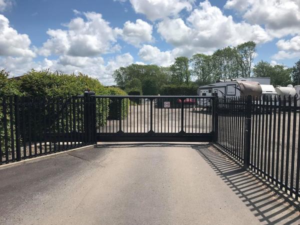
[[[296,100],[218,98],[216,143],[297,199],[300,107]]]

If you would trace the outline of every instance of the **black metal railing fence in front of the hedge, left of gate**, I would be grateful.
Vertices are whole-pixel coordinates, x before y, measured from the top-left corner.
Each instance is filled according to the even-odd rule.
[[[89,144],[84,104],[78,96],[1,96],[0,164]]]

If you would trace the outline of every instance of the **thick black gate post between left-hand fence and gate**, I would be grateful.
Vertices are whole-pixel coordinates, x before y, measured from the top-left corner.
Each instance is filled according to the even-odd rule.
[[[96,105],[95,92],[84,91],[84,136],[85,143],[95,142],[96,138]]]

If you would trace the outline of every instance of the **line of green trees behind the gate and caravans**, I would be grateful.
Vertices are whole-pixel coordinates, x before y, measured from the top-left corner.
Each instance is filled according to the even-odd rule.
[[[126,92],[137,90],[144,95],[166,94],[164,92],[168,87],[176,86],[178,90],[184,86],[194,91],[195,86],[219,79],[249,76],[270,77],[272,85],[300,84],[300,60],[291,68],[266,61],[254,64],[255,54],[255,42],[248,41],[218,49],[211,55],[197,53],[190,58],[179,56],[167,67],[155,64],[119,67],[112,76],[116,85]]]

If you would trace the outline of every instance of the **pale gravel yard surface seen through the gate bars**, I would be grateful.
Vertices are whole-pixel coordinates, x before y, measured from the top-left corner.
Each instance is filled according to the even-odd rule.
[[[148,132],[150,130],[150,103],[148,101],[139,105],[129,105],[127,113],[121,112],[121,129],[125,133]],[[183,130],[186,133],[209,133],[212,131],[212,115],[210,111],[192,104],[185,104],[183,117],[181,108],[161,108],[152,106],[152,129],[156,133],[178,133],[181,130],[181,119],[183,119]],[[102,117],[96,118],[102,121]],[[99,133],[115,133],[119,130],[119,120],[106,120],[106,125],[97,127]]]

